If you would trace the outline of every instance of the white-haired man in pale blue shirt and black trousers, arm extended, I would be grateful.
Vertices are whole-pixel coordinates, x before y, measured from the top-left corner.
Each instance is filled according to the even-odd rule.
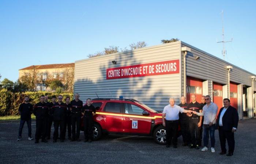
[[[170,104],[163,109],[162,120],[163,126],[166,127],[166,147],[169,148],[173,138],[173,148],[177,148],[177,130],[179,113],[191,113],[192,111],[185,110],[178,105],[175,105],[175,99],[169,99]]]

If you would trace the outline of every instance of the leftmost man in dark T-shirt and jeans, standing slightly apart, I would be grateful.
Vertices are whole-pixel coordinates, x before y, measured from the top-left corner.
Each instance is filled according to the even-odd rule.
[[[24,102],[19,105],[20,125],[19,125],[19,136],[17,141],[21,140],[22,129],[25,122],[27,122],[27,128],[29,131],[28,140],[33,140],[33,138],[31,137],[31,114],[32,113],[33,113],[33,105],[29,103],[29,97],[25,96]]]

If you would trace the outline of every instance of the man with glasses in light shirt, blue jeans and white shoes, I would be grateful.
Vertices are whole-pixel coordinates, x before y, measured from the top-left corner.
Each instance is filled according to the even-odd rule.
[[[206,105],[203,107],[203,112],[195,112],[194,114],[198,116],[204,116],[204,122],[203,122],[203,128],[204,128],[204,147],[201,151],[207,151],[208,150],[208,141],[209,141],[209,132],[210,132],[210,138],[211,138],[211,152],[214,153],[215,149],[215,123],[216,123],[216,115],[218,111],[218,106],[211,102],[211,97],[207,95],[205,97]]]

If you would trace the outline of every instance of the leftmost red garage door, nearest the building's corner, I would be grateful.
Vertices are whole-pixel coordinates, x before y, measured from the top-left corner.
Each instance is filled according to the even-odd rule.
[[[187,103],[191,102],[191,95],[196,95],[196,101],[201,103],[203,81],[187,77]]]

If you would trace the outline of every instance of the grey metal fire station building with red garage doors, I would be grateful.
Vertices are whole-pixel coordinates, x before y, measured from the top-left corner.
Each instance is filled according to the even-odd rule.
[[[239,118],[255,117],[256,75],[178,41],[75,61],[74,93],[87,98],[136,99],[162,111],[191,94],[201,103],[210,95],[219,109],[223,98]]]

